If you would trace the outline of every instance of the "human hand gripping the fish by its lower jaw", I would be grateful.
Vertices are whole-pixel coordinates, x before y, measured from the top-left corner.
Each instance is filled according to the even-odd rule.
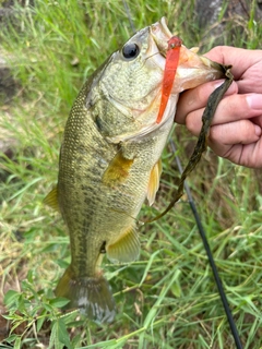
[[[235,81],[221,100],[209,135],[209,146],[230,161],[262,167],[262,50],[217,46],[206,55],[233,65]],[[182,93],[175,121],[199,135],[211,93],[223,81],[213,81]]]

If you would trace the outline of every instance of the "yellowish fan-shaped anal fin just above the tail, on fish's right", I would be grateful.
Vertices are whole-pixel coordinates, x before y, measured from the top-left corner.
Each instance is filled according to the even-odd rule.
[[[133,227],[127,230],[121,237],[109,244],[106,249],[107,257],[114,263],[130,263],[138,260],[140,254],[140,241],[138,232]]]

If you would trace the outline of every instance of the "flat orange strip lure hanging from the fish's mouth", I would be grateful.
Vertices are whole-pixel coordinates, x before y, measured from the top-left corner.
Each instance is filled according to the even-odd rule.
[[[172,36],[168,41],[166,65],[165,65],[163,86],[162,86],[160,108],[158,111],[156,123],[159,123],[162,121],[168,98],[171,93],[171,87],[172,87],[172,83],[175,80],[177,65],[179,61],[179,52],[180,52],[181,45],[182,45],[182,40],[178,36]]]

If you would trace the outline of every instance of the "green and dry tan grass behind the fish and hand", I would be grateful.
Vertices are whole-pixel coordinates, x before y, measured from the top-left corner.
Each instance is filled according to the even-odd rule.
[[[216,34],[209,39],[198,27],[194,1],[128,3],[136,28],[166,15],[188,47],[216,45]],[[16,96],[0,107],[0,347],[235,348],[186,196],[167,216],[141,227],[139,261],[104,265],[118,308],[111,325],[59,312],[64,300],[52,290],[70,262],[69,239],[43,198],[56,183],[63,127],[81,85],[132,29],[122,1],[38,0],[15,9],[0,34],[19,83]],[[251,7],[241,21],[221,15],[224,43],[261,47],[254,13]],[[195,140],[182,127],[172,137],[184,166]],[[174,195],[178,169],[169,146],[163,159],[157,202],[143,207],[141,220]],[[259,171],[211,151],[189,179],[241,340],[254,349],[262,347],[261,182]]]

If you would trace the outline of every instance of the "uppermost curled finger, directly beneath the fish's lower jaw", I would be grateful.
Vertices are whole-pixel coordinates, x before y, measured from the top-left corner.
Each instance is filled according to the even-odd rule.
[[[187,116],[206,106],[210,95],[224,82],[224,80],[213,81],[180,94],[175,121],[186,123]],[[238,85],[233,82],[225,96],[237,94]]]

